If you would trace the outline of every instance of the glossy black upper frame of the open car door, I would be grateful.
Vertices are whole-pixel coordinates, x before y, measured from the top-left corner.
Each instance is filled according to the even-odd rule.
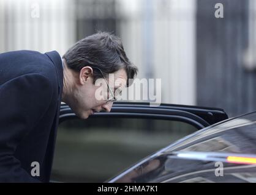
[[[227,113],[220,108],[191,105],[161,104],[151,107],[148,102],[115,102],[111,112],[99,112],[90,118],[147,118],[186,122],[198,130],[227,119]],[[67,119],[78,118],[71,108],[61,104],[59,124]]]

